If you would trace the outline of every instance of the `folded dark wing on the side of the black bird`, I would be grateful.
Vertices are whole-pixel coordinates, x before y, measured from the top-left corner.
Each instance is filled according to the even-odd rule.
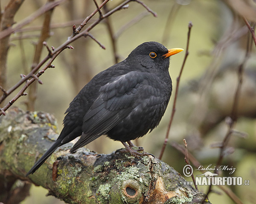
[[[83,134],[70,150],[71,153],[107,133],[131,113],[137,89],[143,82],[140,73],[133,71],[115,77],[100,88],[99,97],[84,116]]]

